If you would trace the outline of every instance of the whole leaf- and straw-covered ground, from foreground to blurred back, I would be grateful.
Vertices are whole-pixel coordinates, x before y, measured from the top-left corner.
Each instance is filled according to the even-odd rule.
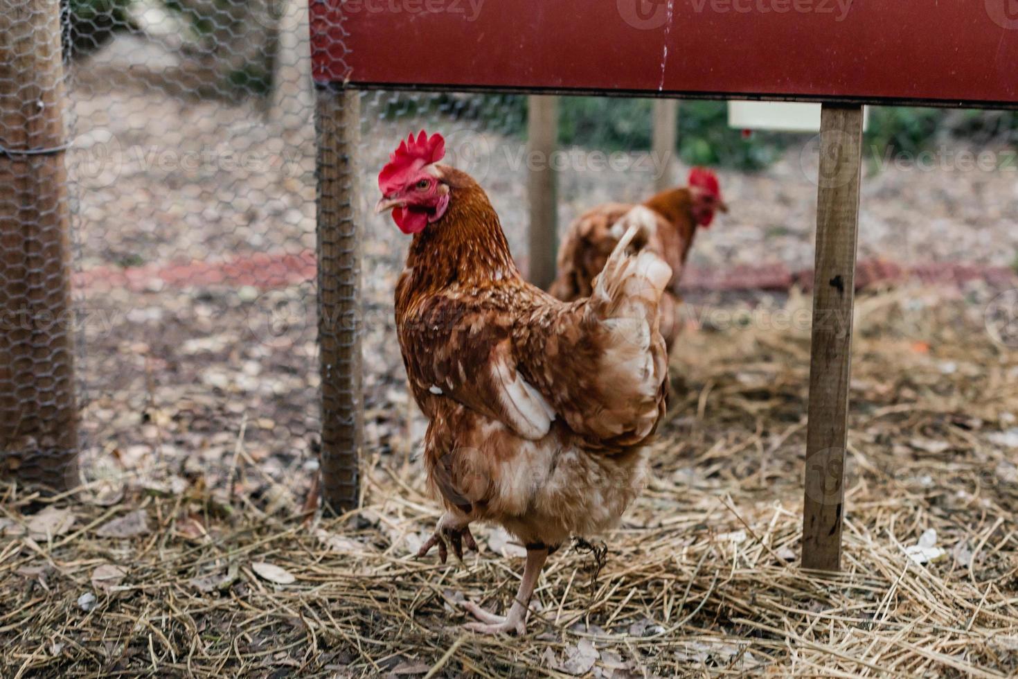
[[[72,74],[82,274],[314,248],[309,110],[266,119],[154,87],[118,58]],[[377,168],[423,119],[394,117],[377,95],[363,110],[366,208]],[[457,134],[451,148],[484,175],[522,253],[521,143],[443,113],[428,123]],[[816,188],[802,167],[796,149],[758,174],[720,172],[733,212],[693,263],[809,267]],[[860,257],[1012,266],[1016,174],[868,174]],[[651,179],[576,166],[561,181],[564,224],[639,200]],[[56,499],[0,488],[0,676],[1018,672],[1018,346],[986,316],[1001,289],[860,299],[835,579],[797,567],[809,298],[693,297],[654,482],[604,537],[604,566],[564,550],[528,634],[482,639],[457,629],[456,603],[504,607],[519,548],[485,529],[462,565],[410,557],[438,512],[413,461],[425,421],[392,325],[406,243],[381,218],[365,224],[364,501],[340,518],[305,504],[320,419],[313,280],[126,288],[99,276],[77,289],[87,485]]]

